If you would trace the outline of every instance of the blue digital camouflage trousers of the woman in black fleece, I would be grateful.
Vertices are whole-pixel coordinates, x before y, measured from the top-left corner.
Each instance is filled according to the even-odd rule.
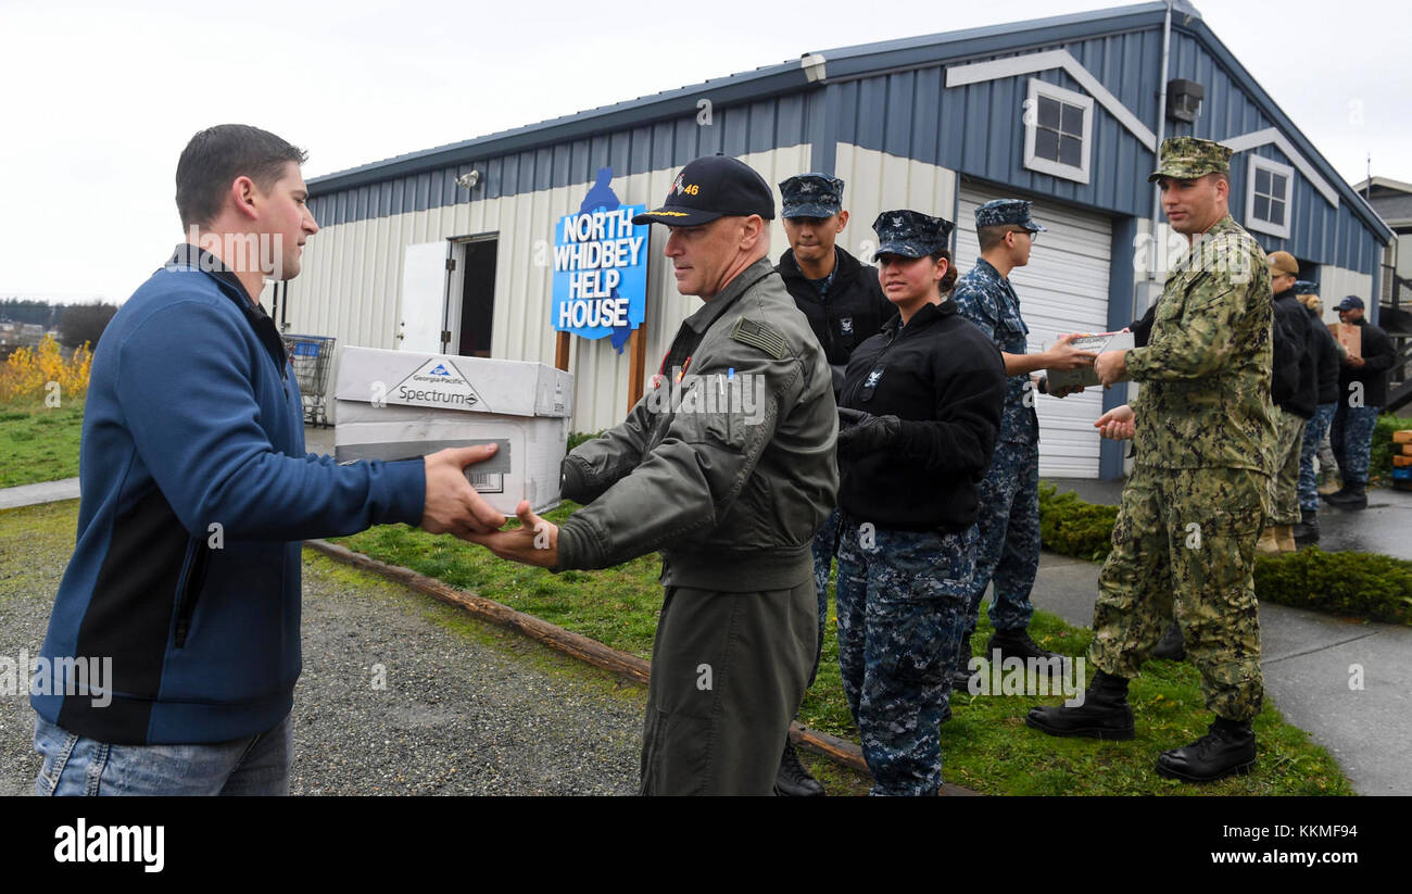
[[[839,668],[871,794],[936,794],[939,725],[966,631],[976,528],[892,531],[844,514],[840,534]]]

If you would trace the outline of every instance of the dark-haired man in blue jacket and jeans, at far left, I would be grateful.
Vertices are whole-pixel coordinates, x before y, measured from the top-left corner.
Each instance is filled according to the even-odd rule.
[[[287,794],[301,541],[505,521],[462,472],[486,449],[305,453],[299,386],[258,304],[319,229],[304,160],[254,127],[192,137],[176,165],[188,242],[93,356],[78,542],[31,684],[41,795]]]

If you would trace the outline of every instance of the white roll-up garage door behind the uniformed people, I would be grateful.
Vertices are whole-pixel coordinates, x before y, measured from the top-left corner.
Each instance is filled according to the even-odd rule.
[[[956,263],[962,273],[980,257],[976,208],[1005,198],[1015,196],[993,186],[962,184],[956,212]],[[1043,350],[1065,332],[1106,332],[1113,220],[1056,202],[1035,202],[1031,215],[1049,232],[1039,234],[1029,264],[1010,274],[1019,314],[1029,326],[1029,353]],[[1103,415],[1101,388],[1063,400],[1036,397],[1039,475],[1099,477],[1099,432],[1093,421]]]

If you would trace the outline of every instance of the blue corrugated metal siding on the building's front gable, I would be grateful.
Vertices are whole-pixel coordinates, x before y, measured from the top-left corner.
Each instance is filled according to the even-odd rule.
[[[1161,88],[1161,30],[1034,47],[1025,52],[1046,49],[1065,49],[1073,55],[1155,131],[1156,93]],[[1014,55],[1017,54],[967,62]],[[1172,78],[1202,83],[1206,99],[1195,127],[1169,124],[1166,136],[1190,134],[1226,140],[1274,127],[1274,121],[1261,113],[1231,75],[1190,34],[1173,30],[1169,68]],[[1094,105],[1089,184],[1024,167],[1022,116],[1029,79],[1038,78],[1086,93],[1065,71],[1051,69],[946,89],[945,69],[939,62],[830,83],[825,103],[836,114],[830,123],[837,140],[1010,184],[1039,196],[1138,217],[1151,216],[1152,196],[1147,175],[1152,171],[1152,153],[1101,105]],[[1274,145],[1250,151],[1291,164]],[[1231,213],[1237,220],[1244,220],[1245,215],[1245,160],[1244,153],[1231,160]],[[1320,264],[1371,273],[1381,246],[1346,203],[1340,202],[1337,208],[1330,205],[1298,171],[1293,189],[1291,239],[1261,237],[1262,244]]]

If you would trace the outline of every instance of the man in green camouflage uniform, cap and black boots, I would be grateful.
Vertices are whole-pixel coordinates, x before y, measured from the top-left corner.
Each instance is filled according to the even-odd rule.
[[[1190,251],[1168,274],[1148,346],[1094,362],[1106,386],[1142,384],[1131,407],[1096,422],[1137,446],[1099,576],[1099,672],[1083,705],[1034,708],[1025,720],[1052,736],[1132,739],[1128,678],[1175,613],[1216,715],[1206,736],[1158,757],[1161,775],[1186,781],[1255,765],[1250,722],[1264,693],[1254,565],[1275,445],[1272,309],[1265,253],[1227,210],[1230,154],[1173,137],[1148,178]]]

